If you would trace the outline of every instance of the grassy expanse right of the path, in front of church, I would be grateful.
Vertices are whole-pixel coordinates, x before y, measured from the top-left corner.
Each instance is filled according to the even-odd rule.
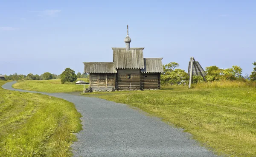
[[[88,93],[130,104],[184,128],[218,153],[256,156],[256,89],[163,87],[157,91]]]

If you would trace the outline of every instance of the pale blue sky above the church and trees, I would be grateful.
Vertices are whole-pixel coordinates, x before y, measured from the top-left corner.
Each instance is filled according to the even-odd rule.
[[[163,57],[187,71],[256,62],[256,1],[0,1],[0,74],[83,72],[82,62],[112,62],[111,47],[131,47]]]

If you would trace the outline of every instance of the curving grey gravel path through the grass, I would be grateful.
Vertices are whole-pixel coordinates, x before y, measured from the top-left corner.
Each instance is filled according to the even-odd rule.
[[[177,129],[145,112],[125,104],[65,93],[43,93],[12,88],[7,90],[42,93],[63,98],[76,105],[82,114],[83,130],[72,145],[75,157],[213,157],[183,129]]]

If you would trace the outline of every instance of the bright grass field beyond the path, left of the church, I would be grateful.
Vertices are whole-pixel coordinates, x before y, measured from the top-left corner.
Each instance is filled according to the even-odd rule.
[[[78,78],[78,80],[83,80],[88,82],[87,78]],[[61,84],[61,79],[54,80],[22,80],[18,81],[13,85],[14,88],[22,90],[32,90],[38,92],[47,92],[47,93],[63,93],[63,92],[82,92],[84,85],[76,85],[75,83],[70,84]],[[85,85],[87,88],[88,85]]]

